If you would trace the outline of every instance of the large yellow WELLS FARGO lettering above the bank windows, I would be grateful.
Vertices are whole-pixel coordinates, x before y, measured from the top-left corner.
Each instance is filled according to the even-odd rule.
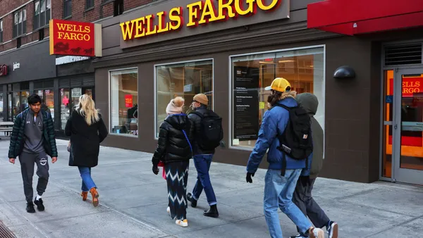
[[[259,11],[274,11],[282,0],[204,0],[188,4],[186,27],[197,27],[213,22],[226,21],[238,16],[252,16]],[[121,23],[123,40],[179,30],[183,27],[183,7],[171,8],[167,14],[161,11]],[[154,18],[157,17],[157,24]]]

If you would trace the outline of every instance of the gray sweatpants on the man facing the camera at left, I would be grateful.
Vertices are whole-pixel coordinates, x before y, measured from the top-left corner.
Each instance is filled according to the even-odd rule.
[[[46,192],[47,182],[49,182],[49,161],[45,152],[30,154],[22,152],[19,156],[20,172],[22,173],[23,192],[27,201],[32,201],[34,191],[32,189],[32,177],[34,176],[34,163],[37,164],[37,193],[41,196]]]

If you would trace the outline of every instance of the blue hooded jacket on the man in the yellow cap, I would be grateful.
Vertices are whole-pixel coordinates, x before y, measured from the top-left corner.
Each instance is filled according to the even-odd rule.
[[[297,106],[295,99],[288,97],[278,101],[278,104],[282,104],[288,107]],[[250,155],[250,159],[247,163],[247,172],[255,173],[259,164],[262,162],[264,154],[267,149],[267,161],[269,162],[269,169],[281,170],[282,169],[282,151],[277,148],[279,146],[278,134],[282,134],[288,125],[289,112],[280,106],[275,106],[269,111],[264,113],[262,126],[259,130],[259,137],[255,144],[255,147]],[[293,170],[298,168],[305,168],[305,160],[297,161],[290,156],[286,156],[286,169]]]

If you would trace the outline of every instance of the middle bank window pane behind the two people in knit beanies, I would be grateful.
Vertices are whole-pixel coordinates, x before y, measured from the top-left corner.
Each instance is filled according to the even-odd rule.
[[[166,106],[171,99],[185,99],[184,112],[189,110],[195,94],[206,94],[213,108],[213,61],[193,61],[156,66],[156,137],[166,118]]]

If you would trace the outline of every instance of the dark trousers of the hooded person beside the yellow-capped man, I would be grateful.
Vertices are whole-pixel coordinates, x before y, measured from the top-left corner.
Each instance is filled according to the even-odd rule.
[[[295,187],[293,202],[300,208],[304,215],[307,215],[315,227],[322,228],[328,225],[330,220],[312,197],[315,181],[316,179],[310,179],[309,176],[300,176],[297,187]],[[297,230],[300,232],[298,227]]]

